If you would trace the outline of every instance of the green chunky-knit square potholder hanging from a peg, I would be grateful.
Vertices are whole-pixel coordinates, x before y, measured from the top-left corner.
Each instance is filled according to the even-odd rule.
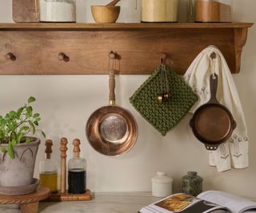
[[[161,132],[162,136],[166,136],[166,133],[174,128],[198,101],[198,97],[186,85],[182,77],[166,65],[171,97],[162,104],[158,103],[157,96],[162,93],[161,69],[162,65],[159,65],[154,70],[154,73],[130,97],[130,103],[154,128]]]

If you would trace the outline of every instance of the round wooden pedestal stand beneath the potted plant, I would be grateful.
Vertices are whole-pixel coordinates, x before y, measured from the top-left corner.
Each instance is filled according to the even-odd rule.
[[[29,195],[0,195],[0,204],[20,204],[22,213],[38,213],[38,203],[50,195],[50,188],[38,187]]]

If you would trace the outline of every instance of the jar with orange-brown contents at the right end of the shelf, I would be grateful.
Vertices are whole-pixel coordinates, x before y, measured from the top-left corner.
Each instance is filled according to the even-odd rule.
[[[231,22],[232,0],[196,0],[195,22]]]

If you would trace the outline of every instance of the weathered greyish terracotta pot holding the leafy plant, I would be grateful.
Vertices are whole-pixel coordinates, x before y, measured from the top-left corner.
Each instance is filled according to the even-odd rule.
[[[40,140],[33,138],[30,144],[18,144],[14,147],[14,159],[8,153],[0,153],[0,186],[18,187],[33,182],[34,163],[38,153]],[[0,144],[0,148],[8,148],[8,144]]]

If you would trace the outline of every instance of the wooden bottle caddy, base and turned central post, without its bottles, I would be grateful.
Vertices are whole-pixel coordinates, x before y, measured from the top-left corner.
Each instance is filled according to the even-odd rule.
[[[58,193],[52,193],[46,202],[58,202],[58,201],[86,201],[92,199],[92,195],[89,189],[86,190],[83,194],[69,194],[66,191],[66,151],[68,141],[65,137],[61,139],[61,189]],[[78,147],[75,146],[75,149],[78,151]],[[79,149],[80,152],[80,149]]]

